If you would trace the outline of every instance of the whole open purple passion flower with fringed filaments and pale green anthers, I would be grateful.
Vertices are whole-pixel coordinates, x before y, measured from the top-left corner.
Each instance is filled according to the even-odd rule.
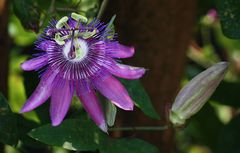
[[[133,110],[127,90],[112,75],[138,79],[145,73],[144,68],[115,60],[134,54],[133,47],[121,45],[115,39],[109,26],[97,19],[89,22],[76,13],[51,21],[36,41],[36,50],[40,53],[21,65],[25,71],[41,72],[41,80],[21,112],[31,111],[51,97],[51,122],[57,126],[66,116],[76,93],[92,120],[106,132],[104,113],[95,90],[119,108]]]

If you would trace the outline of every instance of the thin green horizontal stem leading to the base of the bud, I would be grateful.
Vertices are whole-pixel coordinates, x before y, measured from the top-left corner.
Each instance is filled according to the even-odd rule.
[[[108,131],[164,131],[169,129],[169,125],[165,126],[137,126],[137,127],[117,127],[109,128]]]

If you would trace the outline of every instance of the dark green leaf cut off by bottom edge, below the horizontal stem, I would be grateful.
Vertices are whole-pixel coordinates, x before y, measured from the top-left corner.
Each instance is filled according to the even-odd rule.
[[[108,139],[100,153],[159,153],[152,144],[140,139]]]

